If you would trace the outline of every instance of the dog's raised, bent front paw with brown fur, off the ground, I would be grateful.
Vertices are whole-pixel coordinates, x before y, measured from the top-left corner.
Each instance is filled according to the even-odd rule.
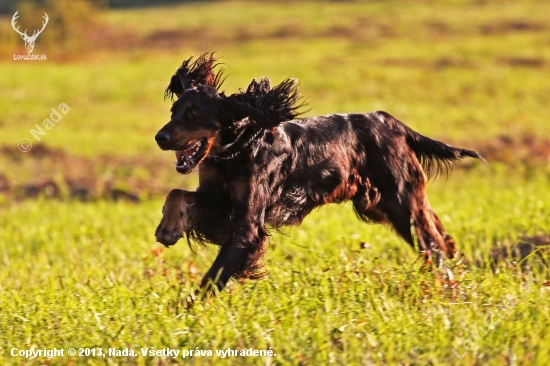
[[[170,246],[183,237],[183,232],[187,229],[186,207],[184,191],[175,189],[168,194],[162,209],[162,219],[155,231],[159,243]]]

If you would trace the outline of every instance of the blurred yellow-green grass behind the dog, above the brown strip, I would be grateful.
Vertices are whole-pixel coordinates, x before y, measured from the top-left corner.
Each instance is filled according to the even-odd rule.
[[[550,79],[549,12],[542,1],[111,11],[102,17],[112,27],[144,39],[155,29],[176,30],[185,41],[171,50],[121,42],[118,53],[99,50],[70,64],[2,62],[0,143],[15,146],[65,102],[73,109],[44,142],[85,155],[158,155],[152,136],[169,110],[163,89],[181,60],[207,47],[227,63],[226,90],[253,77],[296,77],[309,115],[382,109],[420,132],[468,142],[550,135],[550,86],[541,82]],[[518,22],[533,29],[510,29]],[[511,66],[510,58],[542,64]]]

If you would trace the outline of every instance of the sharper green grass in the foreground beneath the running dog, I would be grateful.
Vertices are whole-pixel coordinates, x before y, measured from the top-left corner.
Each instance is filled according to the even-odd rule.
[[[547,180],[479,174],[459,172],[430,192],[470,262],[486,260],[494,244],[550,231]],[[193,253],[182,242],[158,253],[153,232],[161,205],[27,201],[3,209],[0,362],[22,361],[8,352],[32,346],[138,353],[142,347],[272,347],[275,364],[458,364],[452,349],[466,352],[465,364],[550,360],[545,267],[524,275],[504,263],[496,274],[451,265],[458,281],[452,284],[437,271],[421,273],[404,242],[386,228],[361,224],[349,205],[323,208],[300,227],[274,234],[266,280],[234,283],[187,310],[183,300],[216,251]],[[361,241],[370,248],[360,249]],[[489,331],[488,314],[495,317]],[[487,334],[477,335],[478,327]],[[153,362],[141,356],[108,361]],[[265,363],[233,358],[228,364]]]

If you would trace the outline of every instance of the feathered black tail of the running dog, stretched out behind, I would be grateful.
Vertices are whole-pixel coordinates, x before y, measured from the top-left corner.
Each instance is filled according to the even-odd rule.
[[[448,175],[453,169],[453,163],[466,157],[485,161],[475,151],[452,147],[423,136],[388,113],[374,112],[374,114],[392,130],[405,134],[407,144],[416,154],[416,158],[422,165],[428,179],[436,178],[443,173]]]

